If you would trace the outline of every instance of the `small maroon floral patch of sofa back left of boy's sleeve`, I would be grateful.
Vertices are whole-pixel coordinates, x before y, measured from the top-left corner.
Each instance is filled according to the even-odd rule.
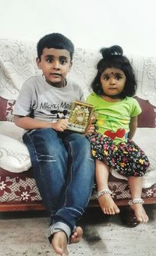
[[[14,100],[6,100],[0,96],[0,121],[11,121],[13,119],[12,110],[15,105]]]

